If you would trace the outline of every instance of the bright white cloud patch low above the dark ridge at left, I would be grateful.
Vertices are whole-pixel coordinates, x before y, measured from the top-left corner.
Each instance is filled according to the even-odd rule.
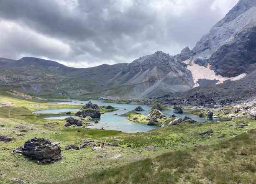
[[[13,58],[17,56],[57,57],[69,55],[71,48],[58,39],[38,34],[26,26],[7,20],[0,20],[0,55]]]

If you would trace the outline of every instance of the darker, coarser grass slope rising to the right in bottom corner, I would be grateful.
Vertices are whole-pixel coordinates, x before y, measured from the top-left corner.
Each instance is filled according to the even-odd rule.
[[[255,184],[255,140],[256,130],[251,130],[229,141],[184,147],[61,184]]]

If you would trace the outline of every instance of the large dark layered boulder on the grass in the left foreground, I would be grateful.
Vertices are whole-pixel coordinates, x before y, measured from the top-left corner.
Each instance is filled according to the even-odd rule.
[[[13,152],[22,153],[42,164],[52,164],[62,159],[60,143],[51,143],[47,138],[31,138]]]

